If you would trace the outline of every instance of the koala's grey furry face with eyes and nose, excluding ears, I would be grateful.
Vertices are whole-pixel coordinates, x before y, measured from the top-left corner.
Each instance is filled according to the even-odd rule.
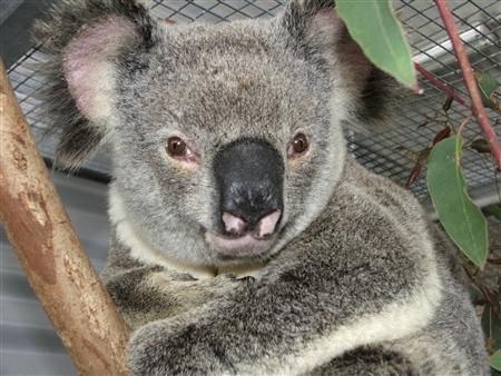
[[[157,248],[184,225],[212,263],[268,257],[332,195],[344,156],[335,81],[278,28],[166,29],[166,43],[120,81],[116,179]]]

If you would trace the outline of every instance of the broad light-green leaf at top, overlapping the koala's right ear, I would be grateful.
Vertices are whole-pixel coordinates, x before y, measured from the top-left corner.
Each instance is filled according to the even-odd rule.
[[[409,87],[416,86],[411,48],[390,0],[336,0],[352,38],[380,69]]]

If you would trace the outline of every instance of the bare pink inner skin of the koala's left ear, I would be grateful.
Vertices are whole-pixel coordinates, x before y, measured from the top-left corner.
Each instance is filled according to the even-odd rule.
[[[96,123],[106,122],[114,95],[114,58],[137,41],[132,22],[119,17],[85,26],[63,53],[63,71],[78,109]]]

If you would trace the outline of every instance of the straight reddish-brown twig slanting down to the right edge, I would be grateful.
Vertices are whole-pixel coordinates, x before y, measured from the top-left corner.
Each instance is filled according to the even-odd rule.
[[[463,42],[459,37],[458,29],[452,18],[452,13],[449,10],[445,0],[435,0],[435,3],[442,17],[445,29],[448,30],[449,38],[451,39],[455,56],[461,67],[461,71],[463,72],[464,83],[466,85],[466,89],[472,101],[473,115],[477,117],[477,121],[482,127],[483,133],[489,141],[498,170],[501,170],[501,147],[499,146],[494,129],[492,128],[492,125],[483,107],[482,98],[480,96],[479,88],[477,87],[475,78],[473,76],[473,69],[471,68],[466,52],[464,51]]]

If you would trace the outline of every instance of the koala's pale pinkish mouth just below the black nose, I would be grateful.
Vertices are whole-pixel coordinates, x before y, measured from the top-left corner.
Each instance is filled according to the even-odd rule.
[[[252,234],[240,237],[226,237],[207,231],[206,240],[225,256],[242,257],[257,256],[266,253],[275,240],[275,236],[265,239],[256,239]]]

